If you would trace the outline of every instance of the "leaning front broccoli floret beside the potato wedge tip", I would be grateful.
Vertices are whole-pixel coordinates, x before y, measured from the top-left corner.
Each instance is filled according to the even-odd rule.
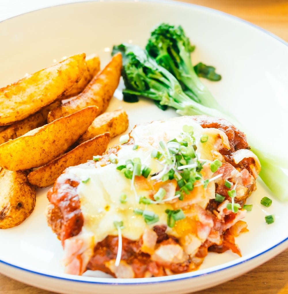
[[[183,92],[177,79],[140,47],[120,44],[113,47],[112,55],[117,52],[121,52],[123,56],[122,76],[126,87],[123,90],[125,101],[135,102],[136,96],[143,96],[158,101],[158,107],[166,105],[176,108],[177,113],[181,115],[222,115],[216,109],[191,100]]]

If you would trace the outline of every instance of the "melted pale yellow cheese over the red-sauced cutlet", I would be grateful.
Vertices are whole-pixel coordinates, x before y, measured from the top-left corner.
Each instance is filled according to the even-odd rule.
[[[136,126],[130,133],[135,144],[139,145],[137,150],[133,150],[133,145],[120,146],[117,153],[119,161],[139,157],[141,163],[149,166],[151,174],[162,170],[163,166],[151,158],[151,152],[159,149],[159,141],[169,141],[173,138],[180,139],[183,125],[194,127],[194,137],[196,138],[197,153],[199,158],[214,160],[221,158],[218,150],[215,150],[216,141],[226,136],[221,131],[210,129],[208,141],[201,143],[202,135],[207,134],[198,123],[191,121],[189,117],[178,117],[167,121],[154,121],[148,124]],[[224,135],[223,135],[224,134]],[[219,137],[220,135],[220,137]],[[212,151],[212,152],[211,152]],[[143,216],[134,213],[135,208],[153,211],[159,216],[159,221],[150,225],[167,225],[166,209],[173,209],[171,204],[139,204],[140,196],[148,196],[149,191],[135,188],[136,194],[131,190],[131,180],[126,178],[123,173],[116,170],[116,164],[110,163],[106,166],[97,167],[75,167],[69,170],[69,173],[75,174],[81,180],[90,178],[87,183],[80,182],[77,192],[80,196],[81,211],[84,216],[83,230],[92,232],[95,236],[95,242],[100,242],[107,235],[117,235],[117,229],[114,227],[114,221],[123,221],[125,228],[122,229],[122,236],[131,240],[138,240],[144,232],[147,224]],[[138,187],[134,185],[134,187]],[[126,203],[120,202],[121,193],[127,195]],[[201,206],[205,207],[209,199],[203,201]],[[168,228],[167,233],[178,235],[175,228]]]

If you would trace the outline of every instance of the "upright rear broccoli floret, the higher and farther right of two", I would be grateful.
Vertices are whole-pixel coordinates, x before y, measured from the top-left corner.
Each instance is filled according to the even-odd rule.
[[[169,24],[160,24],[151,33],[146,45],[148,54],[177,78],[184,92],[190,98],[202,105],[221,109],[194,70],[191,61],[191,52],[194,48],[181,26],[176,27]],[[201,76],[203,76],[203,70],[211,71],[207,67],[204,69],[203,66],[202,72],[200,71]],[[214,78],[215,75],[213,80],[216,80]],[[217,75],[217,78],[219,79],[221,76]]]

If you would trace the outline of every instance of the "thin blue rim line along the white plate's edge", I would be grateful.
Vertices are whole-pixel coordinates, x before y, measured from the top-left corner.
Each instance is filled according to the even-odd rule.
[[[81,2],[72,2],[72,3],[67,3],[67,4],[59,4],[59,5],[54,5],[54,6],[48,6],[48,7],[45,7],[45,8],[41,8],[41,9],[36,9],[34,11],[29,11],[29,12],[26,12],[24,14],[28,14],[28,13],[32,13],[32,12],[35,12],[35,11],[39,11],[39,10],[43,10],[43,9],[48,9],[48,8],[51,8],[51,7],[57,7],[57,6],[63,6],[63,5],[73,5],[73,4],[79,4],[79,3],[88,3],[88,2],[152,2],[152,3],[166,3],[166,4],[177,4],[179,6],[194,6],[194,7],[197,7],[198,9],[202,9],[202,10],[206,10],[206,11],[212,11],[213,13],[215,14],[220,14],[220,15],[224,15],[225,17],[229,17],[230,19],[235,19],[236,21],[239,21],[239,22],[242,22],[242,23],[245,23],[249,26],[252,26],[254,27],[255,29],[259,30],[259,31],[262,31],[263,33],[273,37],[274,39],[276,39],[277,41],[281,42],[282,44],[288,46],[288,43],[286,41],[284,41],[283,39],[281,39],[280,37],[274,35],[273,33],[255,25],[255,24],[252,24],[251,22],[249,21],[246,21],[244,19],[241,19],[237,16],[234,16],[234,15],[231,15],[231,14],[228,14],[226,12],[223,12],[223,11],[219,11],[219,10],[216,10],[216,9],[213,9],[213,8],[209,8],[209,7],[205,7],[205,6],[201,6],[201,5],[197,5],[197,4],[190,4],[190,3],[184,3],[184,2],[180,2],[180,1],[171,1],[171,0],[124,0],[124,1],[117,1],[117,0],[92,0],[92,1],[81,1]],[[18,17],[18,16],[21,16],[21,15],[24,15],[24,14],[20,14],[20,15],[17,15],[17,16],[13,16],[13,17],[10,17],[8,19],[12,19],[14,17]],[[8,19],[4,19],[1,22],[3,21],[6,21]],[[169,276],[170,279],[169,280],[161,280],[161,278],[163,277],[158,277],[158,280],[157,281],[145,281],[145,282],[129,282],[129,283],[117,283],[117,280],[119,279],[113,279],[113,283],[108,283],[108,282],[97,282],[97,281],[85,281],[85,280],[76,280],[76,279],[73,279],[73,278],[64,278],[64,277],[59,277],[59,276],[55,276],[55,275],[49,275],[49,274],[45,274],[45,273],[40,273],[40,272],[36,272],[36,271],[33,271],[33,270],[29,270],[27,268],[22,268],[20,266],[17,266],[17,265],[14,265],[14,264],[11,264],[11,263],[8,263],[8,262],[5,262],[3,260],[0,259],[0,263],[4,264],[4,265],[8,265],[8,266],[11,266],[12,268],[16,268],[16,269],[19,269],[19,270],[24,270],[28,273],[32,273],[32,274],[37,274],[37,275],[41,275],[41,276],[44,276],[44,277],[48,277],[48,278],[56,278],[56,279],[59,279],[59,280],[66,280],[66,281],[71,281],[71,282],[78,282],[78,283],[89,283],[89,284],[101,284],[101,285],[141,285],[141,284],[156,284],[156,283],[163,283],[163,282],[172,282],[172,281],[177,281],[177,280],[186,280],[186,279],[192,279],[192,278],[197,278],[197,277],[201,277],[203,275],[207,275],[207,274],[212,274],[212,273],[217,273],[217,272],[220,272],[220,271],[223,271],[223,270],[227,270],[229,268],[232,268],[236,265],[240,265],[240,264],[243,264],[247,261],[250,261],[250,260],[253,260],[254,258],[257,258],[261,255],[263,255],[264,253],[267,253],[269,251],[271,251],[272,249],[278,247],[279,245],[281,244],[284,244],[286,241],[288,241],[288,237],[285,238],[284,240],[280,241],[279,243],[277,243],[276,245],[268,248],[267,250],[261,252],[261,253],[258,253],[250,258],[247,258],[245,260],[242,260],[240,262],[237,262],[237,263],[234,263],[232,265],[228,265],[226,267],[223,267],[223,268],[219,268],[219,269],[216,269],[216,270],[212,270],[212,271],[209,271],[208,273],[201,273],[201,274],[198,274],[198,275],[193,275],[193,276],[188,276],[188,277],[179,277],[177,278],[179,275],[185,275],[184,274],[178,274],[178,275],[172,275],[172,276]],[[187,274],[187,273],[186,273]],[[71,275],[72,276],[72,275]],[[175,278],[173,278],[175,277]],[[101,279],[106,279],[106,278],[101,278]],[[160,280],[159,280],[160,279]],[[125,280],[125,279],[123,279]],[[135,279],[134,279],[135,280]],[[139,280],[139,279],[137,279]]]

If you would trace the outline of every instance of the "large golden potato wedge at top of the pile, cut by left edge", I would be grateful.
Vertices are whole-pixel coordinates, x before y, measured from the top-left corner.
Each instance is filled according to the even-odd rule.
[[[83,53],[1,88],[0,126],[20,121],[51,104],[80,80],[85,68]]]

